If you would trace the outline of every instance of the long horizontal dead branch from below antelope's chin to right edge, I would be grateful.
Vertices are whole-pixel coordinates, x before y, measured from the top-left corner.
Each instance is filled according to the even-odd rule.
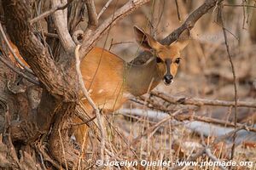
[[[171,104],[180,104],[180,105],[197,105],[197,106],[203,106],[203,105],[212,105],[212,106],[224,106],[224,107],[230,107],[235,106],[235,102],[232,101],[226,101],[226,100],[218,100],[218,99],[200,99],[200,98],[192,98],[192,97],[177,97],[177,96],[171,96],[162,94],[159,92],[151,92],[150,94],[154,95],[155,97],[158,97],[160,99],[165,100],[166,102],[169,102]],[[255,102],[247,102],[247,101],[238,101],[237,107],[250,107],[250,108],[256,108]]]

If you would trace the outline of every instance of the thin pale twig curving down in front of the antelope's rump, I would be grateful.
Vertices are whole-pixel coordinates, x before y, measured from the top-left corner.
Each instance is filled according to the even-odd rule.
[[[93,100],[90,98],[90,94],[88,93],[87,89],[84,86],[83,76],[82,76],[81,71],[80,71],[79,48],[80,48],[80,45],[78,45],[77,48],[75,49],[76,71],[77,71],[77,74],[79,76],[79,84],[80,84],[80,87],[82,88],[83,94],[86,97],[86,99],[88,100],[91,107],[93,108],[94,112],[96,113],[96,120],[97,120],[99,129],[100,129],[101,138],[102,138],[101,139],[101,159],[104,160],[106,134],[105,134],[104,127],[102,125],[102,116],[100,114],[99,109],[97,108],[97,106],[93,102]]]

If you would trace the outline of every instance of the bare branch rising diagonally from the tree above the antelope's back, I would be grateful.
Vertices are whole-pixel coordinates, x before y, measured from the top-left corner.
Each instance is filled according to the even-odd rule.
[[[90,51],[90,48],[96,43],[96,41],[102,37],[103,33],[114,26],[117,21],[123,19],[128,14],[131,14],[134,10],[141,7],[143,4],[148,3],[149,0],[133,0],[125,3],[124,6],[119,8],[115,13],[105,20],[101,26],[99,26],[96,31],[93,32],[92,36],[87,39],[84,37],[84,41],[79,50],[79,55],[84,59],[85,54]]]

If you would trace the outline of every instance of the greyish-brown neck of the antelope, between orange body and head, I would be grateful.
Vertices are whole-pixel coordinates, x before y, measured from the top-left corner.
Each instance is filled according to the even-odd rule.
[[[125,64],[125,88],[134,95],[146,94],[155,88],[163,77],[157,68],[156,59],[149,59],[144,65]]]

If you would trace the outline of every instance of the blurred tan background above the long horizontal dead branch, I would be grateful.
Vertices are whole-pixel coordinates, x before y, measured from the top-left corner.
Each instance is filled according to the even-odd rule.
[[[101,0],[95,2],[97,11],[106,3]],[[113,1],[102,15],[102,20],[125,2]],[[202,3],[202,0],[178,0],[177,3],[174,0],[154,0],[113,26],[97,46],[110,49],[119,57],[131,61],[141,50],[135,40],[133,26],[139,26],[161,40],[181,26],[187,16]],[[243,7],[243,4],[253,6],[254,3],[224,1],[224,25],[228,31],[228,43],[236,70],[238,98],[247,101],[255,101],[256,95],[256,11],[255,8]],[[183,59],[172,86],[160,84],[157,90],[173,95],[234,100],[233,75],[224,45],[223,29],[218,20],[217,8],[201,17],[192,29],[192,40],[183,50]],[[215,112],[212,111],[215,109],[220,109],[216,112],[221,112],[221,115],[229,111],[229,108],[214,107],[207,113]],[[241,117],[253,113],[247,109],[240,112]]]

